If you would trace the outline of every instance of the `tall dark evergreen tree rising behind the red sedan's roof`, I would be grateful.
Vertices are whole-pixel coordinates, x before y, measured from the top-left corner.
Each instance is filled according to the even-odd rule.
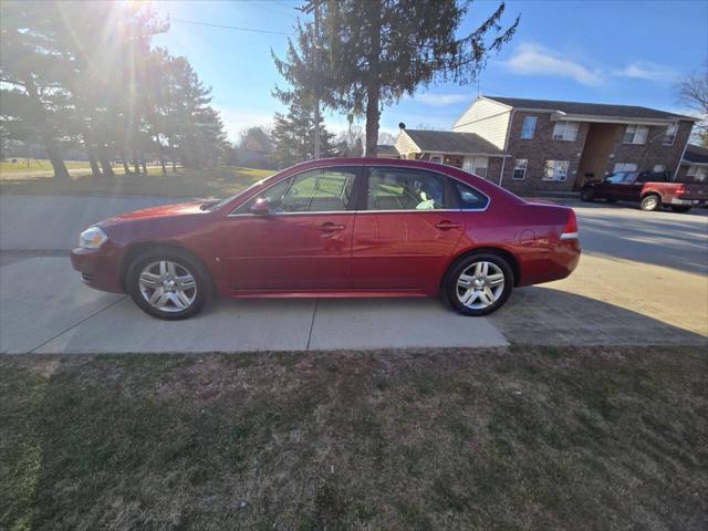
[[[366,155],[376,154],[382,105],[434,81],[477,79],[490,52],[513,35],[519,19],[501,27],[504,3],[462,39],[456,32],[470,1],[456,0],[308,0],[303,11],[319,9],[320,35],[313,23],[298,23],[296,44],[289,40],[275,66],[293,87],[275,88],[285,103],[293,93],[319,95],[325,105],[350,116],[366,116]],[[493,33],[490,39],[489,34]]]

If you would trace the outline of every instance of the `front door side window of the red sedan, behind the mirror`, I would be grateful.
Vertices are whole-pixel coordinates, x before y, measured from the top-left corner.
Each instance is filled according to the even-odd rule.
[[[319,168],[303,171],[263,190],[240,207],[246,214],[258,199],[268,199],[272,214],[336,212],[351,208],[356,170]]]

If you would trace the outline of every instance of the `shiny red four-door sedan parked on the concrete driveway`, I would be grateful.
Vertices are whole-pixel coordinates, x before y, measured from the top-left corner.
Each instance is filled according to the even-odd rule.
[[[300,164],[220,201],[171,205],[86,229],[72,264],[160,319],[226,296],[435,296],[467,315],[512,288],[568,277],[572,209],[527,202],[460,169],[417,160]]]

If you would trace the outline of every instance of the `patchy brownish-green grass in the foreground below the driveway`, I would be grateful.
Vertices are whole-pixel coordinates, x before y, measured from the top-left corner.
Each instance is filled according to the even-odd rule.
[[[679,347],[0,357],[0,529],[705,530]]]

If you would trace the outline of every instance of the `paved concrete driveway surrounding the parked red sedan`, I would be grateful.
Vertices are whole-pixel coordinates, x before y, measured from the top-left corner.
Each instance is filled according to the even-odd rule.
[[[81,284],[66,254],[83,228],[174,201],[0,196],[0,352],[707,344],[706,211],[572,205],[584,249],[577,271],[517,290],[488,319],[459,316],[437,300],[220,300],[167,323]]]

